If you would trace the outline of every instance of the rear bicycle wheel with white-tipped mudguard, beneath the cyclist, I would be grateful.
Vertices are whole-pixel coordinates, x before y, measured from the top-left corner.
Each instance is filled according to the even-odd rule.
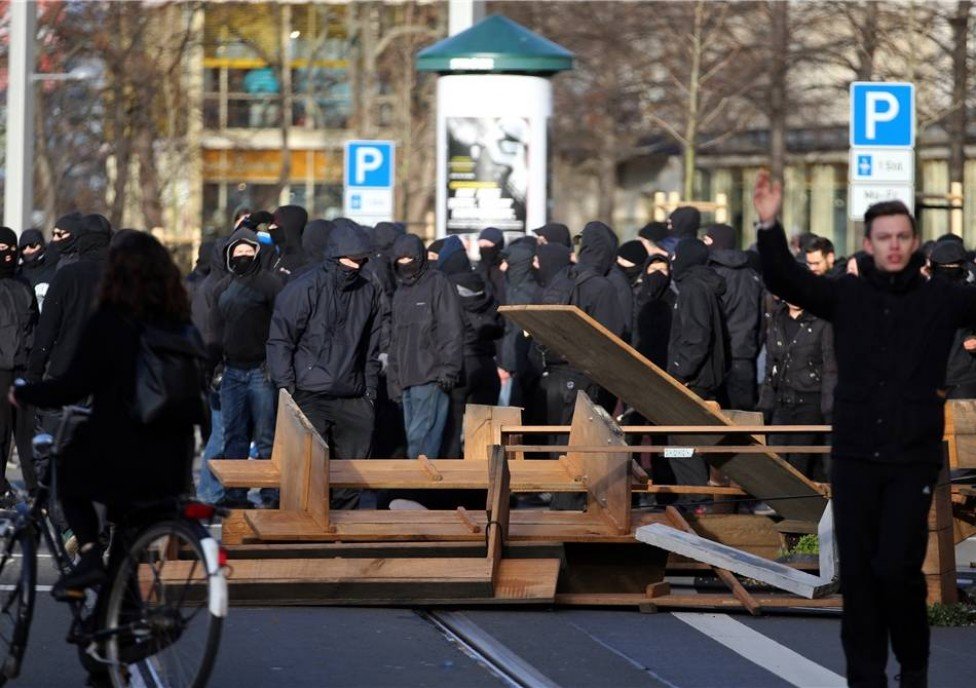
[[[205,686],[226,585],[216,544],[198,524],[167,521],[143,530],[109,588],[104,637],[113,685]]]

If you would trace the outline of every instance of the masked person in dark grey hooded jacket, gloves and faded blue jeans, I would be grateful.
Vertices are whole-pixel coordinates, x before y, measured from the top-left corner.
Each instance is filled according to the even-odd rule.
[[[431,269],[420,237],[393,244],[399,286],[393,295],[387,385],[402,399],[407,455],[439,455],[450,392],[464,366],[464,319],[457,290]]]

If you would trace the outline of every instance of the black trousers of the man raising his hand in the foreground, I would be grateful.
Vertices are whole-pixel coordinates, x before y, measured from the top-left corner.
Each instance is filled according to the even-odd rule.
[[[889,639],[903,672],[928,664],[922,563],[939,466],[837,457],[832,463],[847,681],[885,686]]]

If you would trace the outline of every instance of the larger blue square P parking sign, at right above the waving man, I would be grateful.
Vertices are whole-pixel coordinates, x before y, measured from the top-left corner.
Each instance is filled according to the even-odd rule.
[[[915,85],[856,81],[851,84],[851,146],[915,145]]]

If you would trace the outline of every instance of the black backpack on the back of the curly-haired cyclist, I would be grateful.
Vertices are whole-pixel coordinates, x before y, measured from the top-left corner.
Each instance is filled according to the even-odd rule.
[[[204,369],[207,354],[192,325],[164,329],[142,324],[130,415],[143,424],[203,425],[209,420]]]

